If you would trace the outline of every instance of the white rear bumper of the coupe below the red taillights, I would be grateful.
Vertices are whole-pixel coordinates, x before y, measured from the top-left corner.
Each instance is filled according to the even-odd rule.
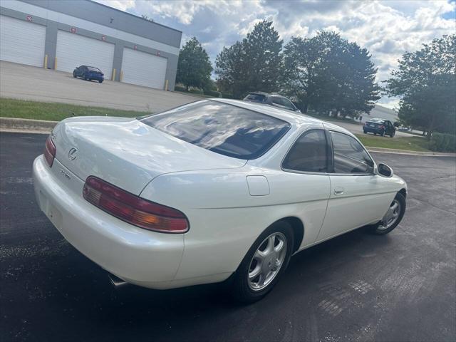
[[[33,187],[40,209],[82,254],[115,276],[152,289],[175,287],[183,234],[162,234],[116,219],[86,202],[83,180],[43,156],[33,162]]]

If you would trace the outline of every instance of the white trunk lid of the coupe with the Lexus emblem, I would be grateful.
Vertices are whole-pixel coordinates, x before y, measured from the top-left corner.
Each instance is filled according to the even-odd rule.
[[[57,160],[81,180],[93,175],[135,195],[164,173],[226,169],[246,163],[131,118],[70,118],[58,123],[53,135]]]

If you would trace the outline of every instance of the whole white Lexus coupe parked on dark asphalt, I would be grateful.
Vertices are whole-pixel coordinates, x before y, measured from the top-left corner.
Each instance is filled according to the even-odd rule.
[[[117,284],[229,279],[247,302],[302,249],[367,225],[391,232],[407,195],[347,130],[222,99],[63,120],[33,162],[33,185],[63,237]]]

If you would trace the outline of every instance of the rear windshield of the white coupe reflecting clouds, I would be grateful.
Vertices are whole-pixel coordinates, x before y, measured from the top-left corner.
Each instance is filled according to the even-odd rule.
[[[140,120],[173,137],[239,159],[259,157],[290,128],[286,121],[212,100]]]

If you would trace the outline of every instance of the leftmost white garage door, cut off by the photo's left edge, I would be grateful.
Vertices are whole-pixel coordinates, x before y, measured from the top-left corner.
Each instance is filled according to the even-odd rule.
[[[1,60],[43,66],[45,41],[45,26],[0,16]]]

